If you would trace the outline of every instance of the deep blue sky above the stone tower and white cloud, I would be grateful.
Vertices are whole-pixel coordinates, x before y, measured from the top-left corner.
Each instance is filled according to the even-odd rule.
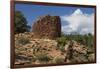
[[[44,5],[32,5],[32,4],[15,4],[15,10],[21,11],[26,17],[28,24],[32,26],[34,21],[39,16],[43,15],[53,15],[60,16],[62,26],[66,26],[70,24],[67,20],[64,20],[62,17],[71,16],[78,9],[78,13],[80,14],[88,14],[91,15],[94,13],[94,8],[81,8],[81,7],[61,7],[61,6],[44,6]]]

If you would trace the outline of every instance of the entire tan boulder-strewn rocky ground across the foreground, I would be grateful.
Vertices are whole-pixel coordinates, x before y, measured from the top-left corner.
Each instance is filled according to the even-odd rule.
[[[33,37],[31,32],[15,35],[15,64],[80,63],[95,59],[93,50],[74,40],[66,41],[62,51],[56,40]]]

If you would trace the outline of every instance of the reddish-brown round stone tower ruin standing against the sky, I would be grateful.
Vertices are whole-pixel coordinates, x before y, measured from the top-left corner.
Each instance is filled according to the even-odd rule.
[[[42,16],[32,26],[35,38],[55,39],[61,36],[61,20],[59,16]]]

